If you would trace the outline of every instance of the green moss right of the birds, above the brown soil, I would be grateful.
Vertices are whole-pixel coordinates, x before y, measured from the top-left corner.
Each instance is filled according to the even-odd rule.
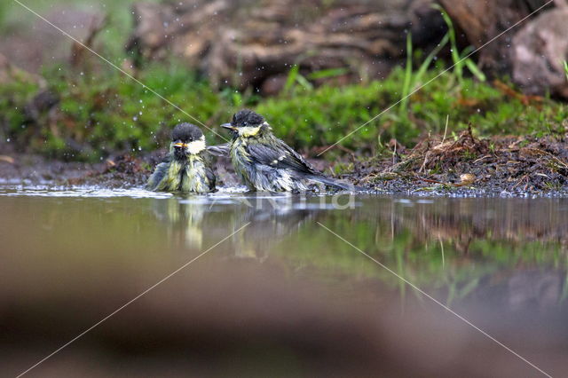
[[[428,72],[423,83],[440,70]],[[269,98],[256,109],[290,143],[328,146],[398,101],[404,76],[402,69],[395,69],[383,82],[296,91]],[[464,130],[471,122],[481,136],[562,132],[562,121],[568,117],[564,104],[544,98],[542,103],[526,106],[521,99],[511,98],[487,83],[472,78],[463,78],[459,83],[452,73],[440,75],[415,93],[408,105],[406,113],[390,111],[368,122],[345,138],[342,145],[365,150],[380,136],[383,140],[397,138],[411,146],[419,135],[444,132],[448,115],[450,133]]]

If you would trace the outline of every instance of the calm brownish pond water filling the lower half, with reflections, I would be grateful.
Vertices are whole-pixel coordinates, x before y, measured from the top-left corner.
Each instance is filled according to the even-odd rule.
[[[172,272],[30,374],[568,371],[564,199],[4,185],[0,240],[7,375]]]

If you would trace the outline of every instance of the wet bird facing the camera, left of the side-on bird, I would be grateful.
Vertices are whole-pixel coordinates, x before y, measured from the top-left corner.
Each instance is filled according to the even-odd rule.
[[[205,136],[192,123],[179,123],[171,132],[170,153],[148,178],[147,190],[209,193],[216,190]]]

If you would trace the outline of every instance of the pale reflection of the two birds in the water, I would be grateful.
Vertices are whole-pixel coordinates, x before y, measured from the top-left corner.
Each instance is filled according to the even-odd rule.
[[[168,242],[186,248],[208,248],[248,224],[232,236],[232,256],[260,262],[280,240],[297,232],[316,213],[305,209],[302,198],[269,194],[174,197],[155,201],[153,210],[167,225]]]

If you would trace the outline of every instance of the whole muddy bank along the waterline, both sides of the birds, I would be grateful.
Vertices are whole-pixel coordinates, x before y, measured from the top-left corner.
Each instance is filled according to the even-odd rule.
[[[375,157],[346,156],[331,163],[311,160],[328,175],[379,193],[429,195],[568,196],[568,140],[565,137],[476,138],[434,136],[414,148],[392,140]],[[50,161],[36,155],[0,155],[0,177],[12,183],[143,186],[166,152],[115,156],[96,164]],[[340,167],[340,168],[338,168]],[[217,158],[220,185],[239,185],[231,162]]]

